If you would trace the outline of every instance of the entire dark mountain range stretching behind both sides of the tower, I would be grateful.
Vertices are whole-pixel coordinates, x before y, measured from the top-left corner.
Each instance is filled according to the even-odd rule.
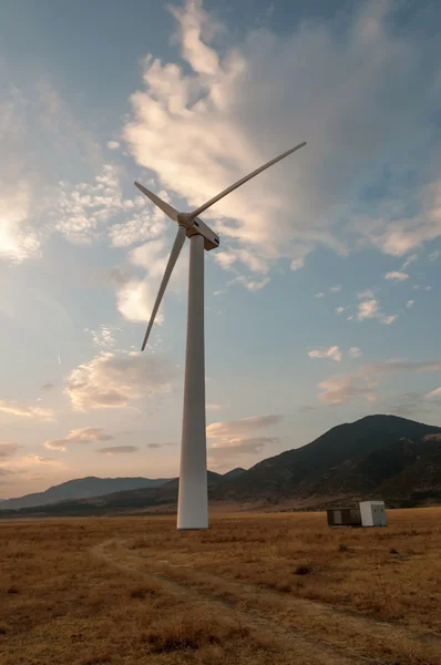
[[[163,484],[89,494],[19,514],[175,511],[178,479],[154,482]],[[248,471],[233,469],[224,475],[208,471],[208,493],[212,505],[245,510],[326,508],[361,499],[383,499],[389,507],[441,503],[441,428],[396,416],[368,416]]]

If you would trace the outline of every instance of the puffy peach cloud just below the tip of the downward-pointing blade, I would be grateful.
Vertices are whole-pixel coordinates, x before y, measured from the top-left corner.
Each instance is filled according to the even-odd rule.
[[[168,392],[173,378],[167,360],[105,351],[71,371],[65,392],[81,411],[122,408],[141,397]]]

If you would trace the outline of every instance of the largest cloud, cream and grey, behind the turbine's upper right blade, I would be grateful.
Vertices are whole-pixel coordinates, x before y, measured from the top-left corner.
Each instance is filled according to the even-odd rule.
[[[250,30],[234,43],[201,2],[188,0],[173,9],[184,66],[147,55],[123,129],[127,151],[194,206],[274,156],[287,136],[293,144],[314,137],[319,151],[307,145],[205,213],[226,245],[253,246],[268,266],[287,257],[298,269],[317,245],[347,250],[338,221],[356,232],[356,243],[361,237],[386,253],[409,250],[435,229],[429,233],[432,223],[422,219],[425,228],[413,227],[403,242],[401,221],[389,233],[400,218],[394,192],[386,194],[392,198],[387,214],[362,214],[363,204],[372,208],[363,192],[381,175],[376,165],[402,163],[410,141],[422,151],[437,131],[427,120],[440,98],[430,57],[435,38],[422,39],[411,25],[406,35],[392,31],[394,9],[372,0],[345,19],[298,23],[285,37]],[[308,95],[299,95],[305,89]]]

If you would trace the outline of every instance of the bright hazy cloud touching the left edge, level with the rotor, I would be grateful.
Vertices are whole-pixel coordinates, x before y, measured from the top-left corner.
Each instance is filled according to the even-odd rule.
[[[100,162],[100,151],[48,80],[19,86],[4,60],[0,74],[0,260],[20,264],[39,257],[53,231],[60,173]]]

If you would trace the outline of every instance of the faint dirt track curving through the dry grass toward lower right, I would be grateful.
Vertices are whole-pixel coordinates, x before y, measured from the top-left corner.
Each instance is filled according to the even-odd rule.
[[[193,605],[209,612],[216,605],[257,633],[269,631],[293,649],[296,665],[441,665],[440,638],[394,623],[157,561],[124,541],[105,541],[92,553],[123,573],[160,582],[171,595],[184,594]]]

